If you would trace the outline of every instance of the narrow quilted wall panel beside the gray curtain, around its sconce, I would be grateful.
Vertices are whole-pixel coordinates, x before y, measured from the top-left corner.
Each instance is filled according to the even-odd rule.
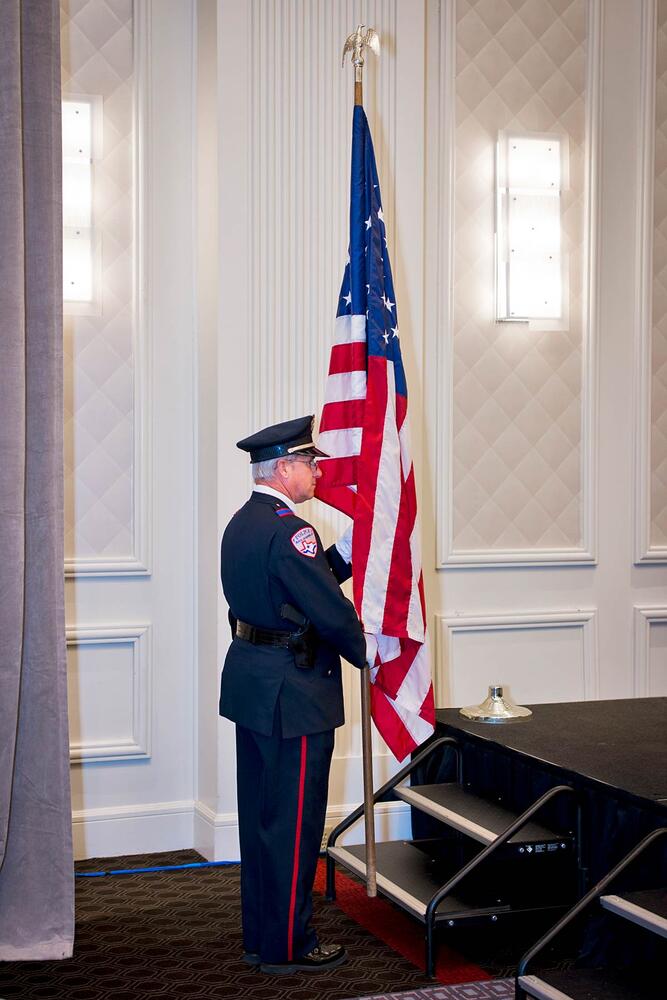
[[[65,316],[65,555],[133,549],[132,0],[62,0],[63,95],[103,99],[101,315]]]

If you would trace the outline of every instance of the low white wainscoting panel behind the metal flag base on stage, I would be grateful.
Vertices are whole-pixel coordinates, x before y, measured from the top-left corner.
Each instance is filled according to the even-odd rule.
[[[502,684],[520,704],[598,697],[594,610],[436,617],[436,699],[477,704]]]

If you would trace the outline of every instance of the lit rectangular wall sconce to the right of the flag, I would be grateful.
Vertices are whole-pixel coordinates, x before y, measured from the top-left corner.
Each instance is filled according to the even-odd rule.
[[[568,187],[564,135],[498,133],[496,318],[567,329],[567,259],[561,192]]]

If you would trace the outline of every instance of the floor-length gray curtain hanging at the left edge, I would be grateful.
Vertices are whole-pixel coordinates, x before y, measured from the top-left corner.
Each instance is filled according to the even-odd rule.
[[[58,0],[0,5],[0,959],[74,935]]]

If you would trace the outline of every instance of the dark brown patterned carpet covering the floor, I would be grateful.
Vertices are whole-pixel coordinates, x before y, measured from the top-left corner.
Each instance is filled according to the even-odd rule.
[[[77,871],[201,860],[193,851],[179,851],[89,860],[79,862]],[[0,998],[350,1000],[433,988],[433,981],[427,980],[411,961],[343,912],[342,898],[339,907],[316,893],[314,903],[320,939],[344,943],[348,962],[326,975],[265,976],[241,961],[237,866],[78,878],[73,958],[64,962],[3,963]],[[393,907],[390,920],[392,911]],[[395,912],[397,921],[404,917]],[[386,915],[384,919],[386,923]],[[421,940],[423,932],[416,923],[414,930]],[[515,940],[514,948],[508,951],[512,941],[510,934],[507,940],[496,938],[495,945],[489,947],[488,940],[484,942],[471,931],[468,937],[462,935],[456,942],[449,940],[449,944],[459,948],[463,942],[470,960],[484,965],[492,975],[501,976],[508,974],[508,960],[515,960],[511,953],[517,950]],[[486,954],[483,962],[482,952]],[[475,978],[466,974],[471,967],[465,960],[454,968],[457,956],[448,951],[443,954],[452,974],[450,982]],[[449,998],[455,994],[442,995]]]

